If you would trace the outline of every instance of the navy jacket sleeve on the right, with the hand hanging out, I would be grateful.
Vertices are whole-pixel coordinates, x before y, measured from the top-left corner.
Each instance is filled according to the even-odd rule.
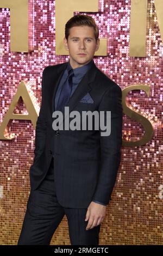
[[[121,161],[122,146],[122,90],[117,84],[111,84],[104,93],[99,111],[104,111],[106,125],[106,111],[111,111],[111,133],[100,136],[101,166],[98,182],[92,200],[109,204],[111,193],[115,185],[118,166]],[[101,129],[100,129],[101,132]]]

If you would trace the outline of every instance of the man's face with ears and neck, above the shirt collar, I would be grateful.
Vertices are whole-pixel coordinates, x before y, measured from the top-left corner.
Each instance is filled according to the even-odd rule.
[[[99,39],[96,42],[92,27],[76,26],[70,28],[68,40],[64,38],[64,45],[70,54],[70,64],[75,69],[90,62],[99,48]]]

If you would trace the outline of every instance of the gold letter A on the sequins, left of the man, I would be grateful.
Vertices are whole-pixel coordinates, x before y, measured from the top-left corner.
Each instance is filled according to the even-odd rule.
[[[24,104],[26,105],[28,114],[13,114],[14,109],[17,105],[18,100],[22,97]],[[20,86],[18,86],[17,92],[14,95],[11,105],[8,109],[8,112],[5,114],[5,117],[3,119],[3,122],[0,126],[0,139],[13,139],[14,137],[9,136],[9,128],[11,125],[11,120],[31,120],[34,127],[36,127],[36,121],[37,121],[37,112],[35,109],[35,106],[33,104],[33,101],[28,93],[26,84],[24,81],[20,83]]]

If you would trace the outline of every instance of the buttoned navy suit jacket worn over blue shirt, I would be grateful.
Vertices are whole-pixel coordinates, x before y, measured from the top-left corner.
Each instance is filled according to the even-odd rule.
[[[93,62],[66,106],[81,116],[82,111],[111,111],[110,136],[101,136],[100,129],[54,131],[54,97],[66,66],[67,62],[43,70],[30,186],[35,190],[40,185],[54,155],[55,189],[62,206],[87,208],[92,200],[107,205],[121,160],[122,90]],[[80,102],[87,93],[93,103]]]

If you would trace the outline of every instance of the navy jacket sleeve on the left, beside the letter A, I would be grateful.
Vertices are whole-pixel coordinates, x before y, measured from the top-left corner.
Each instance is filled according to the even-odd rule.
[[[40,157],[46,144],[46,133],[47,133],[46,88],[45,88],[46,69],[47,68],[45,68],[42,73],[42,83],[41,83],[42,99],[41,99],[39,117],[37,118],[37,121],[36,121],[34,161],[37,157]]]

